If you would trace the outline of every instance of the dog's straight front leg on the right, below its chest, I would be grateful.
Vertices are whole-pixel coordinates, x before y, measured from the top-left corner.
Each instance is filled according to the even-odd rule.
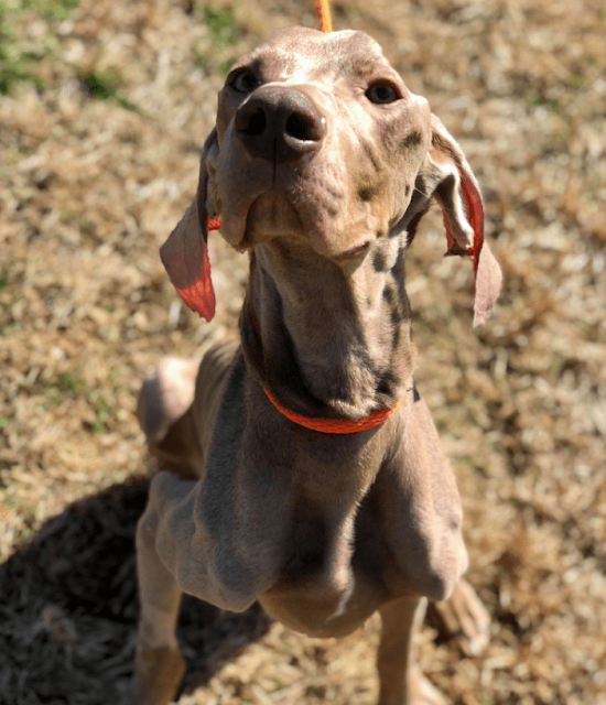
[[[402,597],[380,609],[381,640],[377,659],[379,705],[445,705],[446,701],[421,674],[415,639],[426,598]]]

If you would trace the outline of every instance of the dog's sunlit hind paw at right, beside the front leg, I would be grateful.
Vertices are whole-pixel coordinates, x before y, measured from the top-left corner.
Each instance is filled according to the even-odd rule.
[[[442,637],[456,639],[467,657],[479,655],[488,644],[490,617],[464,579],[458,581],[448,599],[430,604],[428,621]]]

